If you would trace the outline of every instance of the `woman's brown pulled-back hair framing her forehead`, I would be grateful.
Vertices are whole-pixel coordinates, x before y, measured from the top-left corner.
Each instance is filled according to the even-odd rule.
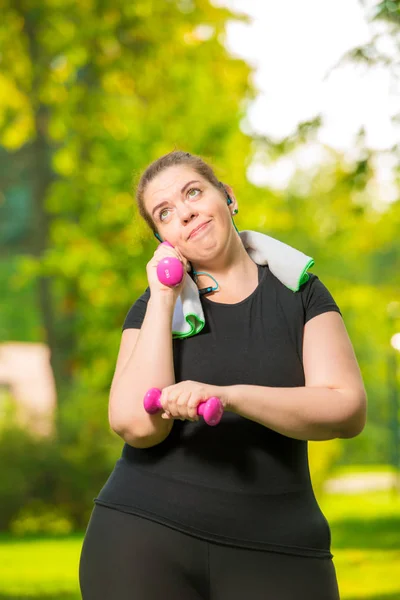
[[[183,152],[181,150],[174,150],[168,154],[164,154],[160,158],[157,158],[152,162],[146,170],[142,173],[139,183],[136,188],[136,202],[139,209],[140,216],[146,221],[153,233],[157,233],[157,229],[153,223],[153,219],[147,212],[144,205],[144,193],[148,184],[162,171],[168,169],[168,167],[175,167],[176,165],[187,165],[196,171],[201,177],[206,179],[214,187],[220,189],[225,193],[224,184],[218,180],[212,167],[207,164],[200,156],[190,154],[190,152]]]

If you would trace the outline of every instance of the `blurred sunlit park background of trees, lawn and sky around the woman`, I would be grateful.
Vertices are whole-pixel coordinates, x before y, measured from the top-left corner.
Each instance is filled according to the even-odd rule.
[[[399,0],[3,0],[0,600],[81,598],[124,445],[121,327],[158,245],[135,185],[178,149],[340,307],[368,417],[308,442],[311,480],[340,597],[400,600],[399,62]]]

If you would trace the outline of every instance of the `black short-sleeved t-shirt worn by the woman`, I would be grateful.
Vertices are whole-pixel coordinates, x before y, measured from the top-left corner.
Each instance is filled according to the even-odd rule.
[[[173,340],[176,382],[304,386],[304,324],[324,312],[340,313],[319,278],[308,275],[293,292],[258,265],[259,284],[241,302],[201,297],[204,328]],[[149,297],[147,288],[123,329],[141,327]],[[333,556],[310,480],[307,441],[228,411],[215,427],[203,419],[176,420],[151,448],[125,444],[95,502],[218,543]]]

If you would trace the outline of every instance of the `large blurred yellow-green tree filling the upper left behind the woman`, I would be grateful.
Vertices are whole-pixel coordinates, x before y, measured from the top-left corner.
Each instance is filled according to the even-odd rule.
[[[59,394],[105,393],[154,244],[132,175],[183,147],[243,184],[250,69],[223,45],[235,15],[208,0],[2,4],[0,140],[30,167],[34,219],[20,281],[37,286]]]

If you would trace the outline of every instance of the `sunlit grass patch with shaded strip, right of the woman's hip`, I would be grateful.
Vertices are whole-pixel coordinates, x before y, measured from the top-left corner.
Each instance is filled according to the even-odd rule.
[[[332,531],[343,600],[400,600],[400,496],[329,494],[319,500]]]

